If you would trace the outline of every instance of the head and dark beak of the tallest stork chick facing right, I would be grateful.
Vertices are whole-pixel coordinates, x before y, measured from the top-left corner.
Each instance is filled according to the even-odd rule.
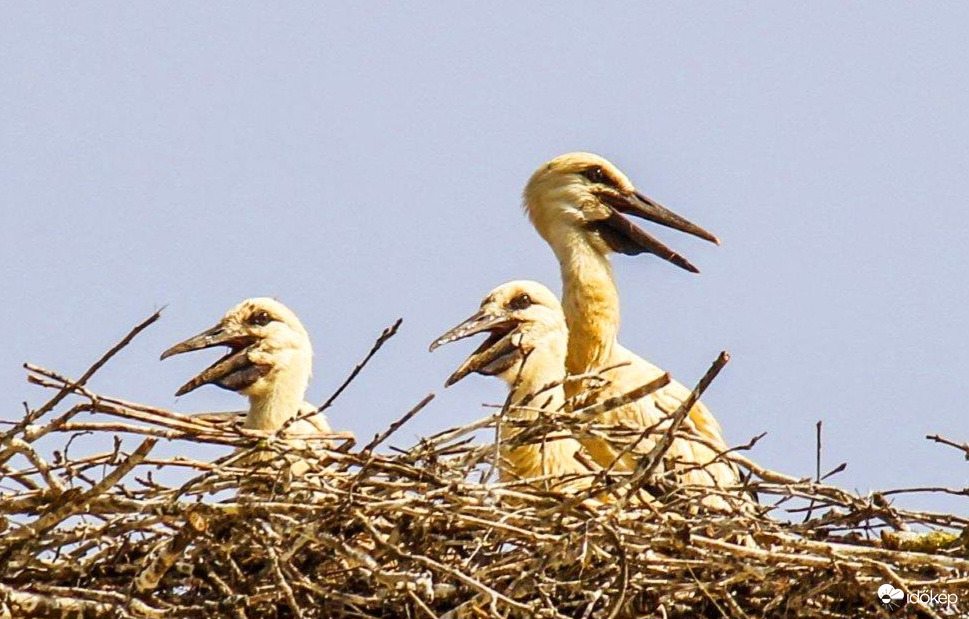
[[[626,215],[720,243],[700,226],[637,191],[616,166],[592,153],[568,153],[542,165],[525,186],[524,204],[532,225],[556,252],[578,235],[580,242],[590,244],[601,255],[648,252],[697,272],[686,258]]]

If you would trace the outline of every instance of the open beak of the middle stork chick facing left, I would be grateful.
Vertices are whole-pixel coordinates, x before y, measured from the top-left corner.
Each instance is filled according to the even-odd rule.
[[[494,376],[510,368],[523,354],[512,341],[512,334],[517,326],[518,321],[511,316],[481,310],[434,340],[430,346],[431,351],[442,344],[463,340],[478,333],[489,334],[481,346],[451,374],[444,386],[450,387],[474,372]]]

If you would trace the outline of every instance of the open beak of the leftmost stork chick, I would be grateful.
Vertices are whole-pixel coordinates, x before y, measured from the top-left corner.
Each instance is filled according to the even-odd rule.
[[[265,376],[270,368],[254,364],[249,360],[248,348],[255,341],[253,337],[232,334],[226,331],[222,325],[216,325],[184,342],[175,344],[163,352],[161,358],[167,359],[172,355],[180,355],[193,350],[202,350],[214,346],[229,347],[229,352],[225,356],[179,387],[175,395],[185,395],[189,391],[194,391],[207,384],[215,384],[230,391],[240,391],[260,377]]]

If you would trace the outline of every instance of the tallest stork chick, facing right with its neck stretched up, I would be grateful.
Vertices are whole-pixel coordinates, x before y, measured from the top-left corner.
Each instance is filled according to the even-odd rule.
[[[614,165],[590,153],[569,153],[542,165],[525,187],[524,206],[561,267],[562,304],[569,330],[568,372],[586,374],[625,364],[603,372],[609,385],[595,391],[590,399],[602,401],[662,375],[661,369],[619,344],[619,292],[609,255],[651,253],[697,272],[686,258],[634,225],[627,215],[719,244],[717,238],[639,193]],[[567,395],[576,396],[581,389],[581,386],[567,386]],[[667,419],[689,393],[684,385],[671,381],[637,402],[605,413],[600,421],[652,427]],[[690,411],[684,429],[699,433],[719,450],[727,449],[720,425],[701,403]],[[604,467],[610,466],[619,453],[605,440],[584,439],[583,443]],[[636,451],[648,451],[653,443],[650,440],[637,446]],[[732,465],[723,461],[709,464],[715,456],[714,450],[701,443],[676,440],[667,457],[680,461],[674,468],[680,471],[679,479],[683,483],[720,487],[736,484],[739,476]],[[635,459],[635,454],[630,454],[617,463],[616,469],[632,470]],[[698,469],[697,465],[707,466]]]

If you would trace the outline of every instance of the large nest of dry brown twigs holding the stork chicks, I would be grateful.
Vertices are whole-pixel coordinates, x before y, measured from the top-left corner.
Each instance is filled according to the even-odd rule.
[[[703,508],[708,489],[664,478],[663,437],[642,467],[600,475],[583,495],[498,482],[498,450],[482,433],[509,423],[507,406],[387,447],[428,396],[366,445],[334,435],[310,450],[242,430],[233,415],[88,390],[157,317],[78,379],[26,366],[54,395],[2,435],[0,616],[874,617],[901,606],[942,617],[969,607],[949,596],[969,578],[965,518],[898,509],[889,497],[904,490],[859,496],[820,474],[766,470],[742,455],[756,439],[720,457],[746,472],[743,492],[760,506],[724,514]],[[543,416],[514,440],[588,430],[577,418]],[[629,429],[611,430],[628,440]],[[75,456],[82,434],[113,448]],[[160,439],[182,454],[193,443],[232,449],[216,461],[154,456]],[[298,475],[288,466],[297,460],[308,463]],[[622,498],[647,486],[655,501]],[[885,585],[901,592],[890,605],[878,595]]]

